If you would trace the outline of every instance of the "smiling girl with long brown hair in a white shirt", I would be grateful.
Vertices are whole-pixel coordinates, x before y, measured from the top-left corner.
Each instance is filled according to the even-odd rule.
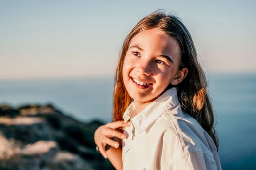
[[[126,37],[113,119],[94,140],[118,170],[221,170],[206,78],[177,17],[152,13]]]

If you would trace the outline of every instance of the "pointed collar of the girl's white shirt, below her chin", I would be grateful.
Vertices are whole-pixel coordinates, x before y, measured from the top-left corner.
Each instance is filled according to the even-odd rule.
[[[178,103],[176,88],[168,89],[131,119],[134,128],[138,133],[143,132],[153,121],[162,115],[164,111],[175,107]],[[130,119],[132,112],[135,112],[134,102],[128,106],[123,114],[125,122]]]

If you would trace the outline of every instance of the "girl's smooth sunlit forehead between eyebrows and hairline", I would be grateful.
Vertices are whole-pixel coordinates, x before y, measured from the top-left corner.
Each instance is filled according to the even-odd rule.
[[[145,30],[136,34],[131,39],[129,47],[135,45],[151,52],[170,53],[172,55],[180,54],[180,48],[177,40],[157,28]]]

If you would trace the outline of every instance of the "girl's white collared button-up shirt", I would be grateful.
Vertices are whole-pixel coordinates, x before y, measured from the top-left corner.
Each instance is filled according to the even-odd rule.
[[[132,102],[124,120],[134,111]],[[212,138],[181,110],[175,88],[133,117],[124,133],[123,170],[221,170]]]

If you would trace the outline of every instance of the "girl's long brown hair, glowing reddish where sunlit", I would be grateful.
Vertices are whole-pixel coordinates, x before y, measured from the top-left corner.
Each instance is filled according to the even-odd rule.
[[[165,34],[175,38],[179,43],[181,61],[179,68],[187,68],[188,74],[178,85],[169,85],[167,88],[177,89],[178,99],[184,112],[190,114],[203,129],[212,137],[218,148],[217,138],[213,128],[214,117],[211,101],[207,92],[207,81],[198,59],[192,37],[184,24],[175,16],[164,12],[154,12],[132,29],[126,37],[116,68],[113,94],[113,120],[123,120],[123,113],[132,102],[123,83],[122,69],[124,58],[132,38],[138,33],[158,28]]]

